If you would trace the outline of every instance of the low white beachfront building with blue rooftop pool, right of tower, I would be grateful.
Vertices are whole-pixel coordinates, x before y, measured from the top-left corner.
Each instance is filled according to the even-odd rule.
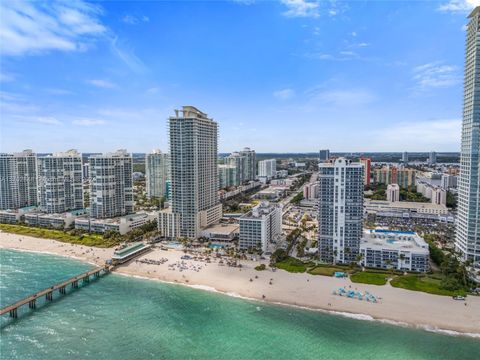
[[[366,267],[417,272],[429,269],[428,244],[415,232],[365,230],[360,255]]]

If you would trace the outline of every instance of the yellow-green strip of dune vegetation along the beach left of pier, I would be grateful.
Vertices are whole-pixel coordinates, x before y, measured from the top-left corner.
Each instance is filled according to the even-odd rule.
[[[62,230],[43,229],[11,224],[0,224],[0,230],[11,234],[32,236],[42,239],[52,239],[71,244],[96,246],[102,248],[112,247],[118,244],[115,239],[104,239],[103,236],[99,234],[71,235]]]

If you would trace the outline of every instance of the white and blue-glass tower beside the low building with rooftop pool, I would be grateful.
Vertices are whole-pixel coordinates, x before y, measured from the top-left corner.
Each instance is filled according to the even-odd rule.
[[[338,158],[319,164],[318,246],[325,262],[354,262],[363,226],[363,165]]]

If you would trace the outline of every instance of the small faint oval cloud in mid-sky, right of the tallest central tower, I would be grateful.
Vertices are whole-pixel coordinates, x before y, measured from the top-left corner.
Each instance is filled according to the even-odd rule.
[[[367,89],[313,89],[307,92],[311,99],[334,107],[349,107],[374,102],[377,96]]]

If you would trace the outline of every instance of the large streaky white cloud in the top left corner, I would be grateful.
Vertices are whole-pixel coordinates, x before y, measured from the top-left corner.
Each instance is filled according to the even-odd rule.
[[[81,51],[103,35],[98,6],[83,1],[0,2],[0,53]]]

